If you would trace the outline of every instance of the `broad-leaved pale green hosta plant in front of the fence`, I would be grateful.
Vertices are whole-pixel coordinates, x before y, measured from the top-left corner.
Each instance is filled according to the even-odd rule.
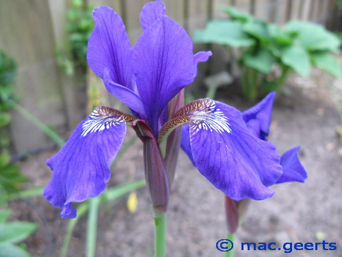
[[[222,10],[231,19],[209,21],[193,38],[195,42],[215,43],[228,49],[231,60],[239,67],[247,99],[278,90],[292,71],[306,77],[311,66],[336,77],[342,75],[332,56],[339,53],[341,40],[321,25],[289,21],[280,28],[233,7],[224,6]]]

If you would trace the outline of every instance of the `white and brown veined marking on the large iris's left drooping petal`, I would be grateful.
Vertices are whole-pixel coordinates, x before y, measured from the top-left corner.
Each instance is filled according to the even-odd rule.
[[[90,117],[82,125],[83,132],[81,136],[87,136],[89,133],[108,130],[122,122],[131,123],[136,118],[105,106],[98,106],[94,109]]]

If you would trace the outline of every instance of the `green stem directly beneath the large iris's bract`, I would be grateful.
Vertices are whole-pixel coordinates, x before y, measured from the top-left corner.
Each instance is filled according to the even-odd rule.
[[[155,257],[165,257],[166,253],[166,214],[154,214],[155,218]]]

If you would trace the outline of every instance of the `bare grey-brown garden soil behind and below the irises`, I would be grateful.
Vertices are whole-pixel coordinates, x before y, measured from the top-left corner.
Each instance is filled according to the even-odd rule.
[[[237,233],[235,256],[334,256],[342,254],[342,143],[335,127],[341,124],[332,97],[341,99],[341,80],[316,72],[311,79],[292,77],[274,106],[269,140],[283,153],[301,145],[300,158],[308,171],[304,184],[272,186],[274,197],[251,201]],[[218,95],[224,95],[221,92]],[[251,103],[239,97],[218,98],[240,110]],[[341,108],[341,106],[338,106]],[[129,134],[132,134],[130,132]],[[129,136],[127,136],[129,139]],[[44,160],[53,151],[22,162],[29,183],[44,185],[51,171]],[[114,169],[110,186],[143,178],[142,143],[136,141]],[[127,197],[101,206],[96,256],[147,256],[153,252],[153,214],[146,189],[137,191],[137,210],[126,208]],[[68,220],[42,197],[12,201],[12,219],[34,221],[40,228],[26,241],[35,256],[60,256]],[[46,219],[46,222],[44,222]],[[45,223],[45,224],[44,224]],[[45,226],[44,226],[45,225]],[[224,256],[215,248],[226,238],[224,196],[192,167],[187,156],[179,156],[168,209],[168,256]],[[68,256],[85,256],[86,217],[81,218],[70,241]],[[336,251],[241,251],[241,242],[334,242]]]

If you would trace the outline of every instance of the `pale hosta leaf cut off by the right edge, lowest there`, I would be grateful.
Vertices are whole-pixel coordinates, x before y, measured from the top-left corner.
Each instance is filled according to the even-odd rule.
[[[341,66],[336,58],[333,58],[330,53],[312,53],[311,60],[317,68],[322,69],[335,77],[341,77]]]

